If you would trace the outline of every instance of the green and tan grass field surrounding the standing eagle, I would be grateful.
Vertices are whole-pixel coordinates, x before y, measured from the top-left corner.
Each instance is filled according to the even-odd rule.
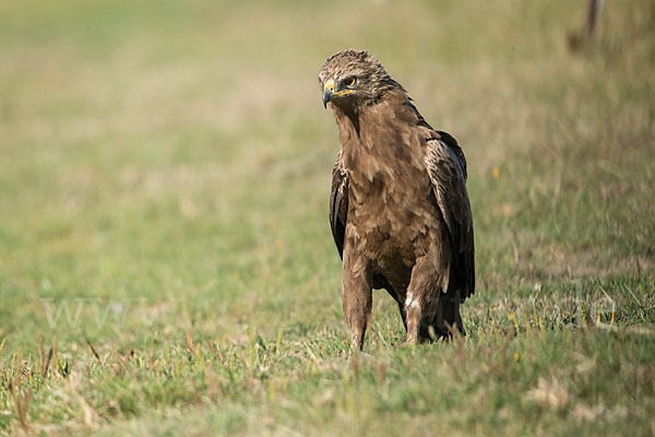
[[[655,2],[585,3],[2,1],[0,434],[653,435]],[[347,358],[347,47],[467,156],[466,338]]]

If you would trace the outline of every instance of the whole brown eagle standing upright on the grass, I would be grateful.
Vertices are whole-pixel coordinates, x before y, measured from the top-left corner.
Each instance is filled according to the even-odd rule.
[[[341,142],[330,226],[350,350],[364,346],[373,288],[398,304],[408,343],[463,333],[460,304],[474,293],[475,265],[462,149],[367,51],[331,56],[319,82]]]

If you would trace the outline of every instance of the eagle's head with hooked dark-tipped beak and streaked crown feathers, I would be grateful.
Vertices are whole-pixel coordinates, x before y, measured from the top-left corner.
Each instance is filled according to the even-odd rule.
[[[348,49],[332,55],[319,71],[323,106],[340,108],[369,105],[386,90],[400,86],[366,50]]]

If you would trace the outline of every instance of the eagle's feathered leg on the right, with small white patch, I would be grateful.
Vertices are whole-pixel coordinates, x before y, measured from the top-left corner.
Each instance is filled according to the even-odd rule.
[[[430,340],[430,324],[441,320],[442,291],[448,286],[449,268],[444,258],[428,253],[416,261],[407,287],[405,314],[407,343]],[[437,330],[437,333],[439,331]]]

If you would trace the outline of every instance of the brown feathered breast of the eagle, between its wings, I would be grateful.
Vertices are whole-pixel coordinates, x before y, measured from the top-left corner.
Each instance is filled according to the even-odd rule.
[[[361,115],[359,134],[340,134],[349,175],[346,241],[381,270],[410,268],[441,232],[424,145],[402,122],[378,109]]]

